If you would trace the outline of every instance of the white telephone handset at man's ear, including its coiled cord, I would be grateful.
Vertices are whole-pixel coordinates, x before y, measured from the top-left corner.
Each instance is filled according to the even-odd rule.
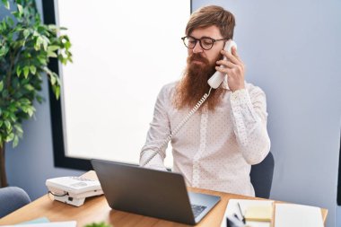
[[[231,53],[232,52],[232,47],[237,48],[237,44],[232,39],[230,39],[230,40],[226,41],[225,46],[224,46],[223,49],[226,50],[227,52]],[[223,57],[223,59],[226,60],[226,57]],[[220,66],[223,67],[223,65],[220,65]],[[154,151],[152,153],[152,155],[141,164],[142,167],[144,167],[146,164],[151,162],[153,157],[155,157],[156,154],[158,154],[158,153],[160,153],[162,151],[163,146],[168,144],[168,142],[170,142],[171,138],[179,132],[181,127],[183,127],[186,124],[186,122],[188,122],[188,119],[190,117],[192,117],[192,115],[197,112],[197,109],[199,109],[201,107],[201,105],[205,102],[205,100],[210,95],[211,90],[212,89],[217,89],[220,86],[220,84],[223,83],[224,78],[225,78],[225,74],[223,74],[223,73],[221,73],[219,71],[216,71],[210,77],[210,79],[208,79],[207,83],[210,85],[210,90],[208,91],[208,93],[204,94],[204,96],[201,98],[201,100],[199,100],[197,102],[197,105],[193,109],[191,109],[189,111],[188,115],[185,118],[183,118],[183,120],[179,123],[179,125],[177,127],[175,127],[175,129],[170,133],[170,135],[168,135],[167,138],[165,138],[163,140],[162,144],[160,144],[158,149],[156,151]],[[143,153],[140,154],[140,159],[141,159],[142,155],[143,155]]]

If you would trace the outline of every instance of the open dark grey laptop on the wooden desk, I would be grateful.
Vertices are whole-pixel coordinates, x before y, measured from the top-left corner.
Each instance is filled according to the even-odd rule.
[[[196,224],[220,201],[220,196],[188,192],[179,173],[119,162],[91,162],[112,209]]]

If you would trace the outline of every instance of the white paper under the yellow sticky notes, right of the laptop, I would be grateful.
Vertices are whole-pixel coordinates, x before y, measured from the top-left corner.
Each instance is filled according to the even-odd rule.
[[[238,207],[240,204],[240,209]],[[256,207],[256,206],[272,206],[273,201],[271,200],[256,200],[256,199],[230,199],[229,203],[226,206],[225,214],[223,215],[223,221],[221,223],[221,227],[226,227],[226,217],[233,216],[237,214],[239,219],[241,220],[241,214],[245,215],[248,207]],[[246,221],[246,224],[252,227],[270,227],[270,222],[255,222],[255,221]],[[287,227],[287,226],[286,226]]]

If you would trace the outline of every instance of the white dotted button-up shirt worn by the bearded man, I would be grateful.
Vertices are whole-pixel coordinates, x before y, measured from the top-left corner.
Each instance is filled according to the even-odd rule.
[[[167,84],[159,93],[140,164],[190,110],[173,107],[175,85]],[[250,165],[262,162],[270,150],[267,102],[260,88],[250,83],[245,86],[246,89],[232,92],[225,84],[227,92],[214,112],[202,109],[172,137],[173,171],[182,173],[188,186],[255,195],[249,179]],[[165,151],[166,146],[145,167],[165,170]]]

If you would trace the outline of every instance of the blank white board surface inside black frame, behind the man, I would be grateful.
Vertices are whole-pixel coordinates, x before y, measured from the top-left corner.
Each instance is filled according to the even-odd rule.
[[[59,65],[66,156],[138,163],[157,94],[186,66],[190,1],[55,4],[74,61]]]

